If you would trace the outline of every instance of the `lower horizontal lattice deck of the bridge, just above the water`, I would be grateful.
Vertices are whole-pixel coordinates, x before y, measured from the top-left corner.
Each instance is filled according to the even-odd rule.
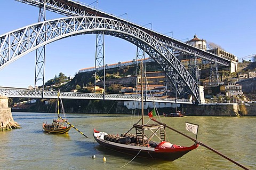
[[[15,88],[0,88],[0,94],[9,98],[42,98],[44,93],[45,99],[57,99],[58,91],[35,91],[35,90],[22,90]],[[73,93],[73,92],[60,92],[62,99],[88,99],[88,100],[103,100],[103,94],[99,93]],[[145,96],[143,97],[145,98]],[[105,94],[105,100],[123,100],[123,101],[141,101],[139,95],[124,95],[124,94]],[[149,102],[161,103],[175,103],[175,99],[155,98],[147,96]],[[191,100],[177,99],[178,103],[192,104]]]

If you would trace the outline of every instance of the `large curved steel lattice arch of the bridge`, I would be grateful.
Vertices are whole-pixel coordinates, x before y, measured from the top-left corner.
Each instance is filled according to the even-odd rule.
[[[175,77],[179,77],[177,86],[180,92],[193,95],[195,101],[201,103],[195,80],[164,44],[127,22],[103,17],[68,17],[43,21],[0,36],[0,70],[21,56],[59,39],[102,32],[125,39],[140,48],[145,47],[146,53],[161,65],[169,79],[176,80]]]

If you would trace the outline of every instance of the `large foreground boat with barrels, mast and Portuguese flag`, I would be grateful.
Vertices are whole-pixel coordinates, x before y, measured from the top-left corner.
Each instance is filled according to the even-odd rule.
[[[142,62],[141,69],[142,70]],[[189,146],[181,146],[170,143],[166,137],[165,124],[158,123],[153,116],[157,116],[157,110],[153,109],[149,112],[149,120],[145,122],[143,116],[143,86],[142,82],[146,82],[140,76],[141,91],[141,118],[139,121],[126,132],[119,135],[108,134],[94,129],[94,139],[104,148],[125,153],[127,155],[138,156],[143,158],[151,158],[157,160],[173,161],[178,159],[198,147],[197,141]],[[159,115],[158,115],[159,117]],[[150,123],[153,121],[154,123]],[[198,126],[191,125],[191,129],[197,129]],[[169,128],[169,127],[168,127]],[[170,128],[171,129],[171,128]],[[118,132],[117,132],[118,133]],[[197,131],[196,131],[197,133]]]

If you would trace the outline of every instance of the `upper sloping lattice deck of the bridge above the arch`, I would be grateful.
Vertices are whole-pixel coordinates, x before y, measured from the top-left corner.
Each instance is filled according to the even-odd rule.
[[[15,1],[33,5],[36,7],[44,5],[42,0],[15,0]],[[187,54],[196,55],[198,58],[216,62],[221,66],[229,66],[231,62],[230,60],[222,58],[219,55],[216,55],[207,51],[203,51],[202,49],[199,49],[187,43],[183,43],[181,41],[178,41],[166,35],[159,34],[156,31],[139,26],[135,23],[119,18],[113,14],[109,14],[109,13],[94,9],[89,5],[79,3],[78,1],[45,0],[45,8],[46,10],[56,12],[66,16],[98,16],[98,17],[106,17],[109,19],[123,21],[123,22],[126,22],[128,25],[131,25],[132,27],[145,31],[146,33],[148,33],[150,36],[153,36],[155,39],[157,39],[158,42],[161,42],[169,49],[174,48],[174,50],[178,50]]]

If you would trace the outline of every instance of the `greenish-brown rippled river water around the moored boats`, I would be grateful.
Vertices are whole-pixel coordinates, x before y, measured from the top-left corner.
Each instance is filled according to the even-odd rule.
[[[53,114],[13,112],[12,115],[22,128],[0,132],[0,169],[242,169],[202,146],[173,162],[166,162],[133,159],[103,149],[94,142],[93,128],[107,133],[124,133],[135,123],[129,115],[67,114],[68,121],[88,138],[74,128],[67,135],[44,133],[42,123],[51,122]],[[199,141],[249,169],[256,169],[256,117],[161,119],[191,137],[195,135],[185,130],[185,122],[199,124]],[[171,143],[193,144],[175,132],[169,131],[167,135]]]

